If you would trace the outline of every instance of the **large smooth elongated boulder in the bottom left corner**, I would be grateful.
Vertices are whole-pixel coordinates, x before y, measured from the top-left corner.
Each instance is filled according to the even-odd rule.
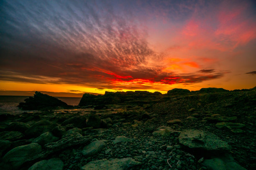
[[[13,148],[3,157],[3,162],[5,163],[4,167],[6,167],[5,169],[18,170],[28,158],[40,153],[41,150],[41,145],[38,143]]]

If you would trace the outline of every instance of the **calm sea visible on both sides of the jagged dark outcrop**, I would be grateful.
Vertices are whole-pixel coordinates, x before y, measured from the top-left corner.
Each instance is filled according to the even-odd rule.
[[[25,102],[24,99],[29,96],[3,96],[0,95],[0,114],[20,114],[23,110],[20,110],[17,106],[20,102]],[[56,97],[59,100],[66,102],[68,105],[76,106],[80,102],[80,97]],[[33,111],[26,111],[33,112]]]

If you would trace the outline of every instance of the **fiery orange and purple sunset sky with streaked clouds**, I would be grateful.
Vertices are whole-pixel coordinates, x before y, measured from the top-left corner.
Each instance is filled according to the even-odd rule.
[[[0,22],[0,95],[256,86],[254,0],[1,0]]]

